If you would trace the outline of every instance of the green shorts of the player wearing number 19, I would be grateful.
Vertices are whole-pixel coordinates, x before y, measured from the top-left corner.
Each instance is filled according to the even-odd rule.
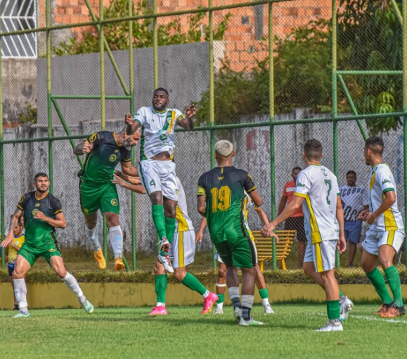
[[[252,268],[256,264],[256,251],[249,237],[226,239],[214,246],[221,260],[228,266]]]

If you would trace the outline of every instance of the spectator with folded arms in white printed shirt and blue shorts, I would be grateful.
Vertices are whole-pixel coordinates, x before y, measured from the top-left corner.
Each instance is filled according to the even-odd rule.
[[[363,187],[356,186],[356,172],[347,172],[347,184],[340,187],[342,208],[344,209],[344,233],[349,242],[348,267],[354,266],[354,258],[361,241],[362,222],[358,215],[368,209],[368,193]]]

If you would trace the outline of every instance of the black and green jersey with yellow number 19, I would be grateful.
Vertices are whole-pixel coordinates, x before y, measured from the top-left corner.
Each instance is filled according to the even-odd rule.
[[[213,243],[247,237],[243,215],[245,191],[256,186],[245,170],[216,167],[198,181],[198,196],[206,196],[206,218]]]

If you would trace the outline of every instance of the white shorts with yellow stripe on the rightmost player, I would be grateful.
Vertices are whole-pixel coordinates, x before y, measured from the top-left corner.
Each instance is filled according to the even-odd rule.
[[[366,252],[379,255],[379,247],[388,244],[394,248],[396,253],[401,248],[404,241],[404,230],[378,232],[373,229],[368,229],[366,232],[366,239],[362,242],[363,248]]]

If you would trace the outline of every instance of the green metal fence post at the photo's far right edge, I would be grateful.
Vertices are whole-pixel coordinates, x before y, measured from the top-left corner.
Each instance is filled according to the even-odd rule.
[[[407,1],[403,1],[403,19],[407,19]],[[407,21],[403,24],[403,165],[404,165],[404,223],[407,223]],[[404,239],[407,245],[407,238]],[[407,266],[407,256],[406,256]]]

